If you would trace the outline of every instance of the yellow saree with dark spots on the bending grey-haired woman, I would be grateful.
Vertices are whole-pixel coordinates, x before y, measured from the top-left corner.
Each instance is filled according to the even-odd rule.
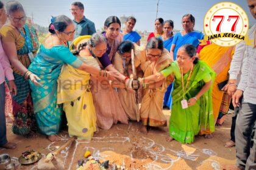
[[[79,59],[85,63],[95,60],[93,56]],[[68,121],[68,134],[84,140],[91,140],[96,131],[96,112],[89,80],[90,73],[69,65],[62,67],[58,79],[57,104],[63,104]]]

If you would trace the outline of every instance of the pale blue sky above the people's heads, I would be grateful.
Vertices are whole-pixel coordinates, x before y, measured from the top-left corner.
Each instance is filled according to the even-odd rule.
[[[69,9],[74,1],[69,0],[18,0],[24,7],[27,16],[32,16],[34,22],[48,27],[51,16],[66,15],[73,18]],[[79,0],[78,0],[79,1]],[[137,23],[136,30],[154,30],[154,20],[156,18],[158,0],[87,0],[80,1],[85,6],[85,17],[94,22],[96,29],[104,26],[104,21],[108,16],[118,17],[135,16]],[[2,2],[7,2],[6,0]],[[158,17],[164,20],[174,21],[174,29],[181,30],[182,16],[191,13],[196,18],[195,30],[203,30],[204,16],[212,5],[223,2],[219,0],[159,0]],[[249,12],[246,0],[232,0],[244,9],[249,18],[249,25],[256,21]]]

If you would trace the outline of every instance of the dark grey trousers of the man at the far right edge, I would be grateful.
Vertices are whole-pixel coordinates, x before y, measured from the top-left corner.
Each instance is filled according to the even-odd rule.
[[[243,101],[235,125],[236,166],[240,169],[256,169],[256,133],[253,146],[250,147],[255,121],[256,104]]]

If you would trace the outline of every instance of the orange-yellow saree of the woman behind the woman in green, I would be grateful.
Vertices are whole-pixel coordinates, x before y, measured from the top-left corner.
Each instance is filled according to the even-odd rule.
[[[219,116],[224,91],[219,90],[218,83],[228,80],[229,67],[232,60],[234,47],[221,47],[216,44],[205,46],[199,53],[200,60],[204,61],[216,72],[213,82],[213,115],[215,122]],[[230,100],[227,100],[230,103]],[[229,105],[229,104],[228,104]],[[229,107],[229,106],[228,106]]]

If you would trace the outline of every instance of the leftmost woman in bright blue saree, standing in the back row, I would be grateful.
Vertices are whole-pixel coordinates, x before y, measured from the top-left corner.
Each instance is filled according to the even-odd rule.
[[[135,24],[136,19],[133,16],[129,16],[126,19],[126,27],[123,30],[123,41],[130,40],[140,46],[141,36],[137,32],[133,31]]]

